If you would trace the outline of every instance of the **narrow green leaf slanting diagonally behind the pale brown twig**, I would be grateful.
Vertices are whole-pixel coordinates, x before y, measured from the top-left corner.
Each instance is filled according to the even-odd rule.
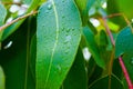
[[[30,0],[31,1],[31,0]],[[30,3],[30,7],[29,9],[27,10],[25,13],[29,13],[31,12],[32,10],[34,10],[38,4],[39,4],[40,0],[32,0]],[[12,34],[21,24],[22,22],[24,21],[24,19],[11,24],[10,27],[8,27],[4,31],[3,31],[3,34],[2,34],[2,39],[1,41],[6,40],[10,34]]]

